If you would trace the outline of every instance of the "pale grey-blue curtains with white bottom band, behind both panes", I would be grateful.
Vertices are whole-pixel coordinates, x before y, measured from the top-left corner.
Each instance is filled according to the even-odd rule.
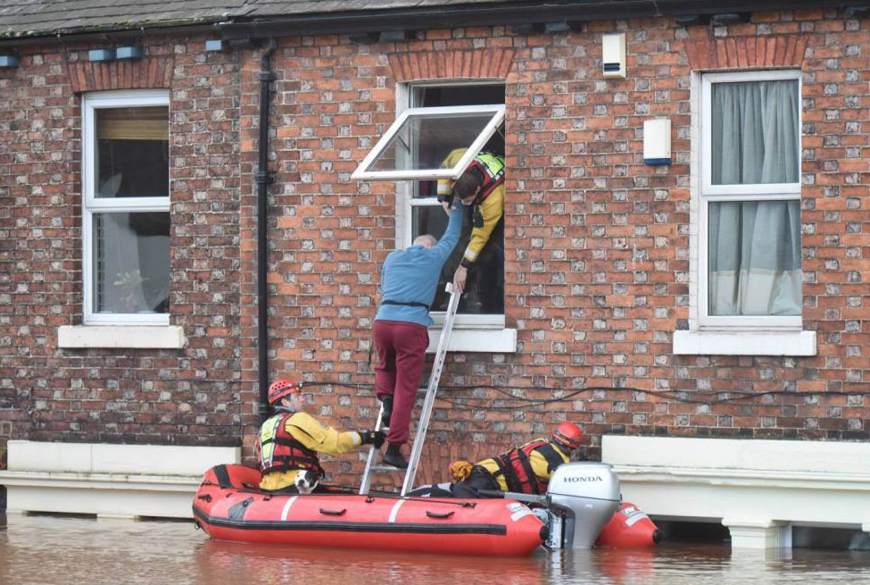
[[[800,181],[794,80],[713,86],[714,185]],[[800,202],[710,203],[709,313],[800,315]]]

